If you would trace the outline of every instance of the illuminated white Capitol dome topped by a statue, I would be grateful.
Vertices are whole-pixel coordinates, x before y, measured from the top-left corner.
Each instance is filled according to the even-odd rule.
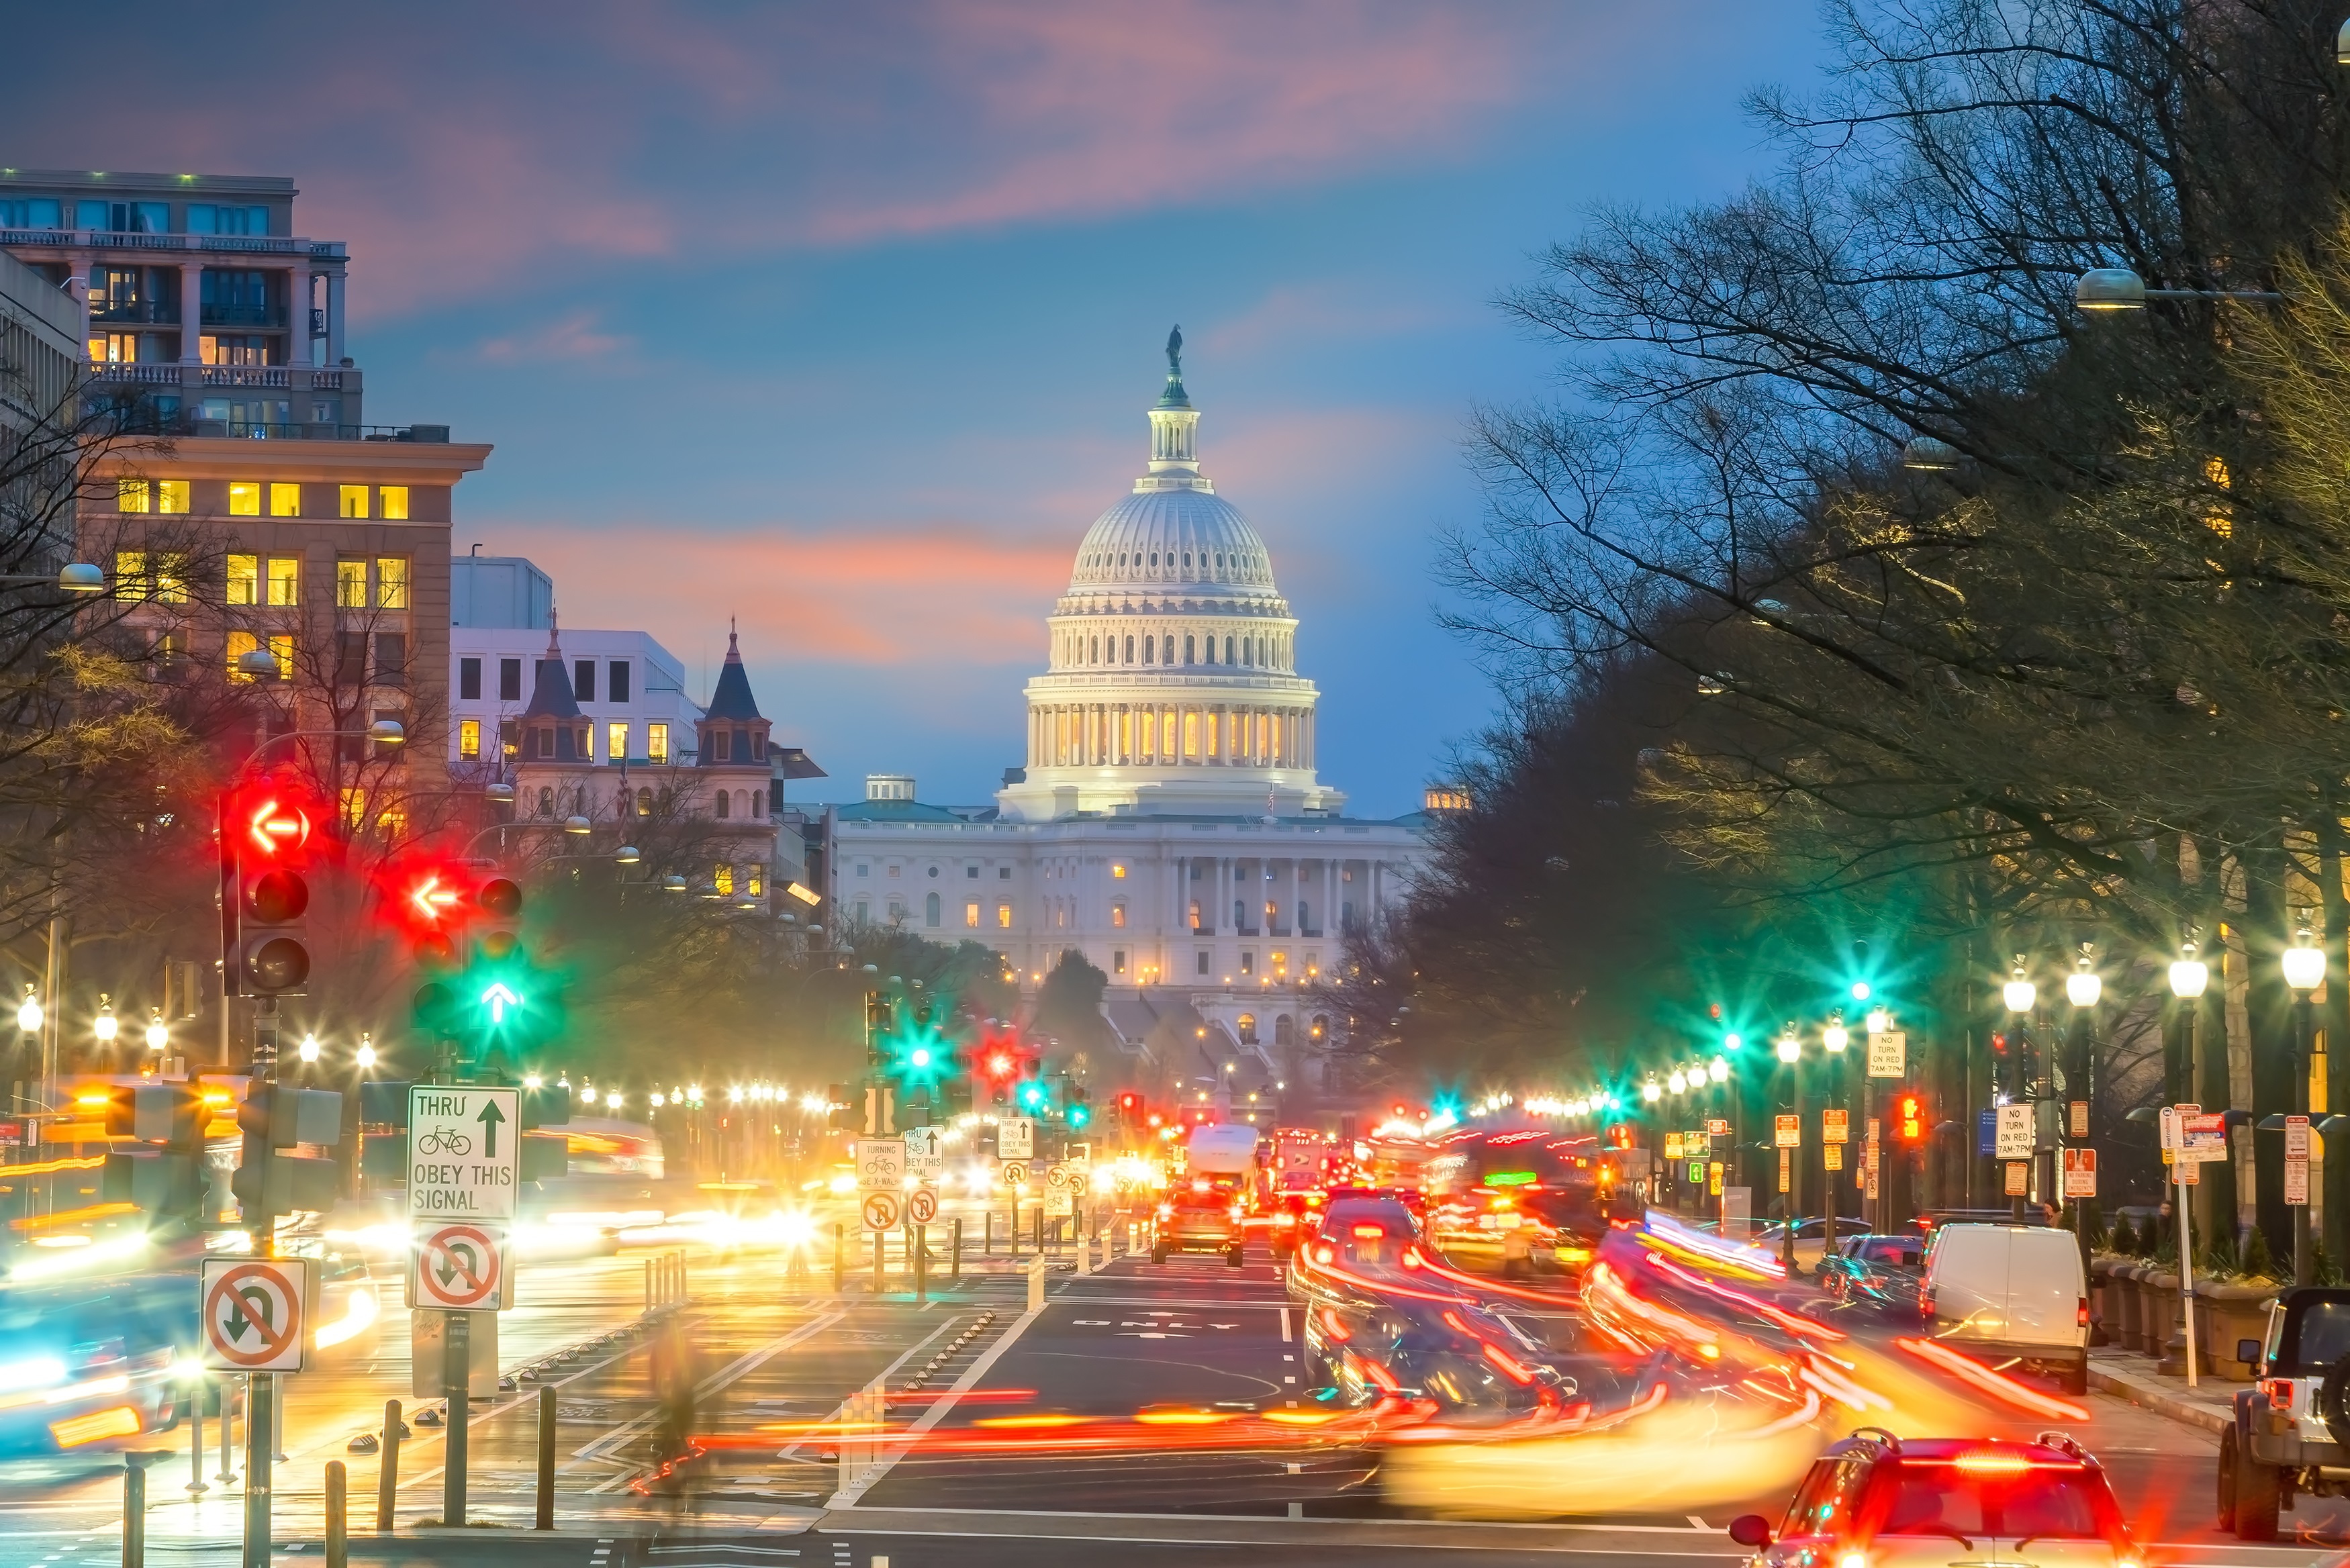
[[[1271,550],[1198,470],[1180,331],[1149,421],[1147,470],[1076,548],[1027,686],[1027,766],[996,802],[1029,820],[1337,811]]]

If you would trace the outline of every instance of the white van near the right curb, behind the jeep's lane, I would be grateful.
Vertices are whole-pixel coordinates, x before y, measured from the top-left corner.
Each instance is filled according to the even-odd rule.
[[[2054,1373],[2089,1392],[2089,1281],[2080,1237],[2028,1225],[1943,1225],[1925,1251],[1934,1338],[1979,1361]]]

